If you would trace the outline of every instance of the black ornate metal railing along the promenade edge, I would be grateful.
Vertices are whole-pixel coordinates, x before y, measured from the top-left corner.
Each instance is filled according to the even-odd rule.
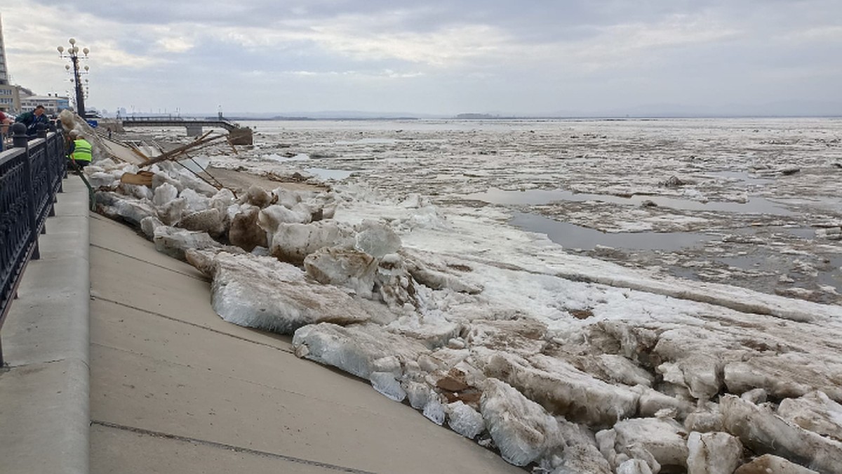
[[[55,127],[27,137],[24,124],[12,127],[12,147],[0,153],[0,328],[29,260],[40,258],[38,236],[67,175],[64,138]],[[0,346],[0,367],[3,347]]]

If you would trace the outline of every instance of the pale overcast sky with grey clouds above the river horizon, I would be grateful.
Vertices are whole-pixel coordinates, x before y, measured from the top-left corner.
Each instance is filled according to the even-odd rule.
[[[4,3],[8,72],[136,113],[842,115],[839,0]]]

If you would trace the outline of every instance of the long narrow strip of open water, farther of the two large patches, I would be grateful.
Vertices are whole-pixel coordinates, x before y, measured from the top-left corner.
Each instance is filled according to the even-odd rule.
[[[685,211],[707,211],[719,213],[743,213],[743,214],[772,214],[791,215],[792,212],[777,202],[772,202],[764,197],[750,197],[748,202],[699,202],[690,199],[679,199],[677,197],[645,196],[634,195],[632,197],[619,197],[606,194],[589,194],[562,189],[528,191],[504,191],[498,188],[491,188],[484,192],[475,192],[466,195],[467,199],[500,204],[504,206],[525,205],[536,206],[551,204],[552,202],[610,202],[624,206],[640,206],[643,202],[654,202],[659,207],[669,207]]]

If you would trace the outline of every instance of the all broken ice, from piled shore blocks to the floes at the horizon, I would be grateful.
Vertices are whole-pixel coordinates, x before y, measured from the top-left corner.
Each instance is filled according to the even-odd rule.
[[[335,294],[336,300],[317,297],[333,301],[317,310],[331,322],[301,326],[293,338],[297,355],[369,380],[392,399],[408,398],[434,423],[495,447],[513,464],[545,472],[589,466],[580,470],[630,473],[717,472],[749,463],[836,472],[842,465],[842,308],[829,290],[810,287],[833,277],[819,267],[839,255],[839,241],[829,238],[839,214],[823,206],[823,196],[835,191],[817,178],[840,159],[837,132],[825,122],[595,122],[555,124],[557,129],[536,122],[460,123],[430,125],[430,131],[423,123],[401,123],[408,128],[401,132],[371,130],[377,127],[371,124],[355,126],[362,131],[340,124],[290,127],[283,139],[321,156],[323,167],[365,173],[333,182],[323,196],[249,191],[221,207],[209,202],[215,195],[208,191],[181,196],[189,180],[163,167],[151,198],[129,189],[123,197],[105,193],[102,205],[168,236],[198,225],[188,218],[185,227],[184,218],[224,208],[200,214],[212,224],[205,227],[216,232],[220,218],[231,244],[243,251],[263,248],[263,256],[209,248],[198,254],[204,259],[193,259],[197,267],[216,274],[215,258],[260,262],[259,270],[249,270],[254,280],[286,279],[300,283],[302,293]],[[388,134],[394,141],[349,139],[358,133]],[[265,144],[253,154],[220,154],[212,163],[276,175],[299,170],[299,160],[265,159],[280,137],[270,129],[262,137]],[[818,148],[823,158],[813,163],[806,157]],[[776,158],[774,150],[787,159]],[[735,157],[747,159],[750,168],[740,166],[754,182],[728,177]],[[776,170],[784,164],[801,165],[803,175],[781,177]],[[665,180],[664,167],[684,179]],[[641,193],[701,203],[749,205],[752,197],[774,197],[800,212],[724,215],[610,199],[520,207],[594,228],[718,235],[703,250],[644,255],[571,251],[510,226],[511,207],[465,197],[491,187],[560,185],[618,198]],[[264,212],[271,206],[284,208]],[[307,222],[307,213],[323,219]],[[811,222],[824,229],[811,232],[815,239],[786,234]],[[156,230],[163,225],[184,229]],[[754,228],[763,231],[743,232]],[[173,245],[184,251],[193,235]],[[783,260],[775,265],[791,266],[751,276],[708,264],[744,245],[761,252],[758,258],[776,252]],[[195,253],[188,251],[188,258]],[[301,262],[303,270],[295,266]],[[716,276],[675,277],[687,276],[675,268],[700,262],[690,267],[710,276],[716,270]],[[777,272],[773,287],[805,288],[791,293],[756,283],[765,281],[763,272]],[[237,288],[238,278],[225,281]],[[216,279],[214,285],[227,286]],[[257,287],[264,294],[259,298],[237,292],[226,298],[230,304],[277,298],[293,314],[285,290],[277,288]],[[369,320],[330,319],[334,306]],[[750,472],[751,465],[743,467]]]

